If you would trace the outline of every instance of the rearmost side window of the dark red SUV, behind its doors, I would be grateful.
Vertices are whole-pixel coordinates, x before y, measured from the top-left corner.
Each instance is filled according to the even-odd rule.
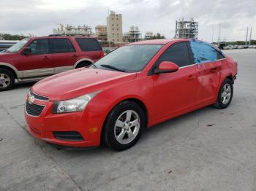
[[[82,51],[100,51],[100,50],[102,50],[102,47],[100,47],[97,39],[75,38],[75,41],[78,42],[78,45]]]

